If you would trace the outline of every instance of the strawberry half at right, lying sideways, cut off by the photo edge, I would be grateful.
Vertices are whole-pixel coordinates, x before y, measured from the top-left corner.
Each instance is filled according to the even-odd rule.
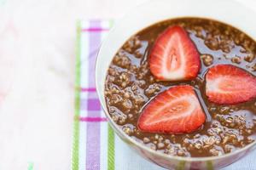
[[[206,76],[207,97],[217,104],[237,104],[256,98],[256,77],[233,65],[216,65]]]

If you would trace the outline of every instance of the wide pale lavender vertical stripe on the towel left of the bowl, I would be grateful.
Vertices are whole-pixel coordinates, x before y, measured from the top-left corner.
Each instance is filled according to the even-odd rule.
[[[100,21],[90,21],[89,27],[101,27]],[[95,87],[95,62],[96,53],[94,53],[100,47],[101,43],[101,31],[90,31],[89,33],[89,86]],[[88,99],[90,98],[88,93]],[[89,100],[88,100],[89,102]],[[95,104],[95,103],[94,103]],[[101,107],[94,107],[93,110],[88,111],[88,117],[100,117]],[[92,109],[92,108],[90,108]],[[87,108],[87,110],[89,110]],[[100,170],[100,150],[101,150],[101,124],[95,122],[87,122],[87,143],[86,143],[86,169],[87,170]]]

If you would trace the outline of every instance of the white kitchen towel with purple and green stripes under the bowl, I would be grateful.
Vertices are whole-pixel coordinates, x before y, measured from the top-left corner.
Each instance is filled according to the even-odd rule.
[[[79,21],[75,114],[73,129],[73,170],[163,170],[128,148],[108,126],[96,94],[95,63],[102,39],[113,21]],[[253,156],[247,156],[225,169],[252,169]]]

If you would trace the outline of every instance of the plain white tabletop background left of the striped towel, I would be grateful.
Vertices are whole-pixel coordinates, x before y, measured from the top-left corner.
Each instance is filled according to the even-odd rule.
[[[71,168],[76,20],[144,1],[0,0],[0,170]]]

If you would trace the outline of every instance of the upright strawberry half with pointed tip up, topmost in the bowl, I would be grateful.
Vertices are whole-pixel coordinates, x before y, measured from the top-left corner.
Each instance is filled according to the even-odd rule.
[[[188,33],[172,26],[154,42],[149,67],[154,77],[163,81],[191,80],[200,71],[200,54]]]

